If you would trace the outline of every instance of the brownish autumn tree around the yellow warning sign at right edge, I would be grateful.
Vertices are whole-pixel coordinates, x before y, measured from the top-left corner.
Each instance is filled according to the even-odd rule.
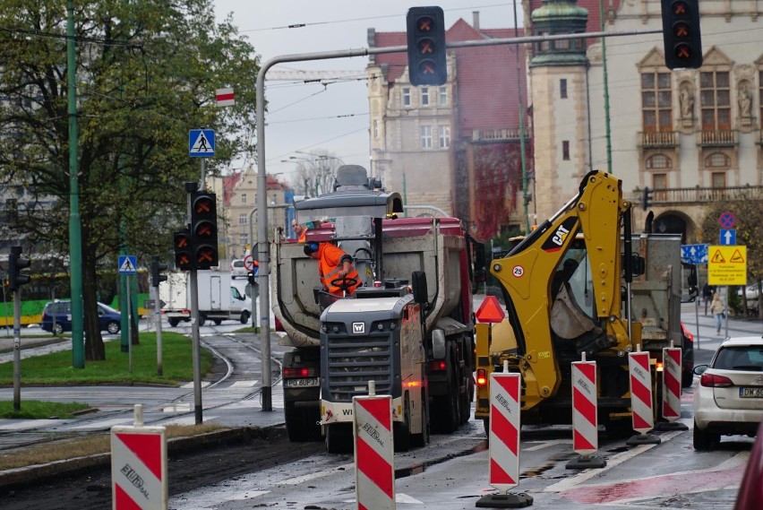
[[[718,218],[723,212],[733,212],[736,216],[736,244],[747,246],[747,283],[752,285],[763,278],[763,203],[760,200],[719,201],[707,206],[707,215],[702,221],[702,238],[709,244],[718,243],[720,227]],[[744,299],[742,293],[742,299]],[[759,315],[763,309],[758,307]]]

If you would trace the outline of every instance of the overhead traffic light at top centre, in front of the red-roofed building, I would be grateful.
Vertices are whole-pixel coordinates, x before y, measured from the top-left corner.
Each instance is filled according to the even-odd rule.
[[[411,7],[407,14],[408,75],[413,85],[448,80],[445,15],[441,7]]]

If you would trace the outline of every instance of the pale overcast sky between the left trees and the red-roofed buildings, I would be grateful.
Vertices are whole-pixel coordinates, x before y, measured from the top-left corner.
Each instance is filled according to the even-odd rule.
[[[215,0],[215,13],[219,20],[233,13],[234,24],[264,63],[287,54],[368,48],[369,28],[405,31],[408,8],[432,4],[442,7],[449,28],[459,18],[471,24],[473,11],[479,11],[480,26],[484,29],[514,27],[514,2],[495,0],[439,0],[422,4],[400,0]],[[517,13],[521,26],[520,0]],[[287,28],[303,23],[306,26]],[[287,179],[296,164],[294,160],[281,161],[289,160],[289,156],[304,157],[298,151],[329,151],[346,163],[368,168],[368,97],[363,73],[367,60],[367,57],[337,58],[271,68],[266,77],[276,71],[304,69],[357,71],[357,79],[331,80],[325,86],[266,82],[268,173],[283,172],[279,178]],[[239,162],[234,168],[242,164]]]

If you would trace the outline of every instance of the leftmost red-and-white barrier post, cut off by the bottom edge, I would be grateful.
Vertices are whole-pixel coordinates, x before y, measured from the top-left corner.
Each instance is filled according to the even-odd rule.
[[[111,495],[114,510],[167,510],[167,437],[164,427],[111,428]]]

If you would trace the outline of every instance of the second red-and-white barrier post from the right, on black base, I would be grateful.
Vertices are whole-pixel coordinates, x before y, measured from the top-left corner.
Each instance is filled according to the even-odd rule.
[[[633,430],[639,434],[630,437],[626,445],[658,445],[660,438],[647,434],[655,428],[654,405],[652,401],[652,372],[649,366],[649,353],[641,352],[640,344],[636,352],[628,353],[630,372],[630,409],[632,411]]]

